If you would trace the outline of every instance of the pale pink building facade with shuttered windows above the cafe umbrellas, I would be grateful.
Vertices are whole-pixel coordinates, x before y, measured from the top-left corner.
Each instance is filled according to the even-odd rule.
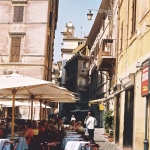
[[[58,0],[0,1],[0,74],[52,79]]]

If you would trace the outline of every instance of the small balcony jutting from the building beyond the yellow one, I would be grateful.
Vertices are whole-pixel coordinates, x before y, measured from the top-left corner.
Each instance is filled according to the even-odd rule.
[[[98,52],[97,67],[100,71],[114,71],[115,62],[115,43],[113,40],[104,39]]]

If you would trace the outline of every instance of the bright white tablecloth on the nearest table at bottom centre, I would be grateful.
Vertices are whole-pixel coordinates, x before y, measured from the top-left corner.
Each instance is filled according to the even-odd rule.
[[[65,146],[65,150],[81,150],[81,146],[84,146],[89,142],[86,141],[68,141],[67,145]],[[87,150],[90,150],[90,148],[86,148]]]

